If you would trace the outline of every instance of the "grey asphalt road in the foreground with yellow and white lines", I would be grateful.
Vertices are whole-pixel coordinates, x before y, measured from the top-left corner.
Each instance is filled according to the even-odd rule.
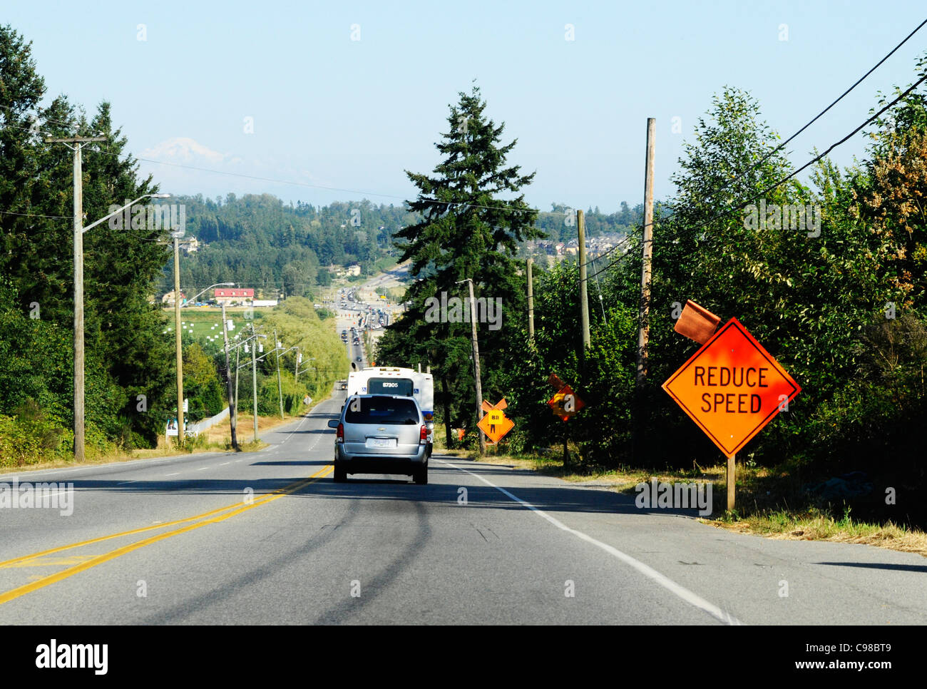
[[[731,533],[440,454],[425,486],[336,484],[343,400],[258,453],[19,474],[73,482],[73,512],[0,509],[0,624],[927,622],[919,555]]]

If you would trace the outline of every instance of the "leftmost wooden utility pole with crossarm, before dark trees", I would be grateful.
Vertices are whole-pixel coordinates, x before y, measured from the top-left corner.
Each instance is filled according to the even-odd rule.
[[[83,144],[106,136],[45,139],[46,144],[73,144],[74,151],[74,461],[83,462]]]

